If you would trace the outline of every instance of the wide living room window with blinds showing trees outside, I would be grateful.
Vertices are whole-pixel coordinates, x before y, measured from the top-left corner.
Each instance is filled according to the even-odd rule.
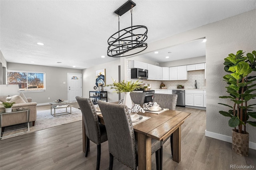
[[[44,72],[7,71],[8,84],[18,84],[20,91],[45,91]]]

